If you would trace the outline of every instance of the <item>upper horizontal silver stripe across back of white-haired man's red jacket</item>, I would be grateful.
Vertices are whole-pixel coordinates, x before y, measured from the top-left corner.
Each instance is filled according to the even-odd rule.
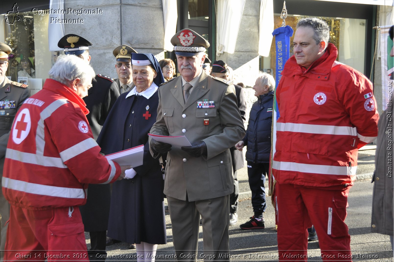
[[[6,158],[17,160],[23,163],[40,165],[43,167],[67,168],[60,157],[46,157],[33,153],[20,152],[11,148],[7,148]]]

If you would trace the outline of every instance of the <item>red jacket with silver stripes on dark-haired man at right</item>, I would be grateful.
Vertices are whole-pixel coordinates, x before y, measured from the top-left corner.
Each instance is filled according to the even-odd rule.
[[[346,187],[355,180],[357,152],[377,136],[372,83],[326,53],[308,69],[292,56],[276,90],[277,121],[273,175],[279,183]]]

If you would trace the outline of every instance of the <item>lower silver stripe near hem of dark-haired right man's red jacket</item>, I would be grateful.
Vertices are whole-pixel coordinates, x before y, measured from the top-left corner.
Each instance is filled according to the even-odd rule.
[[[273,161],[272,168],[282,171],[294,171],[294,172],[302,172],[302,173],[342,175],[342,176],[353,175],[356,173],[357,170],[357,166],[338,167],[338,166],[312,165],[312,164],[301,164],[294,162],[279,162],[279,161]]]

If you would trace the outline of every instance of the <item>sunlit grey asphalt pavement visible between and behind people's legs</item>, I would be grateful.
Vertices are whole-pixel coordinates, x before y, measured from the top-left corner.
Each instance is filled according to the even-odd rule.
[[[374,146],[359,152],[357,182],[350,189],[346,223],[351,236],[353,261],[393,261],[393,252],[388,236],[371,233],[372,187],[370,182],[374,171]],[[239,226],[253,215],[251,192],[247,179],[246,165],[238,172],[240,202],[238,204],[238,223],[229,228],[231,261],[277,261],[277,236],[275,231],[275,210],[271,197],[267,196],[267,210],[264,213],[264,229],[242,230]],[[266,183],[268,188],[268,183]],[[165,215],[167,226],[167,244],[159,245],[156,261],[174,261],[174,246],[169,213]],[[89,248],[89,236],[86,234]],[[203,261],[203,234],[200,226],[199,252],[197,261]],[[135,249],[127,249],[126,243],[107,246],[109,261],[136,261]],[[322,261],[318,241],[309,242],[308,261]]]

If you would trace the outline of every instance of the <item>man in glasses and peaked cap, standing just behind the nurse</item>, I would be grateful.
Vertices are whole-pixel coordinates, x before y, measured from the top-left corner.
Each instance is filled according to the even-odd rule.
[[[118,75],[115,82],[118,85],[119,94],[129,92],[135,86],[131,74],[131,53],[137,53],[137,51],[128,45],[119,45],[113,49],[113,56],[116,58],[115,69]]]

